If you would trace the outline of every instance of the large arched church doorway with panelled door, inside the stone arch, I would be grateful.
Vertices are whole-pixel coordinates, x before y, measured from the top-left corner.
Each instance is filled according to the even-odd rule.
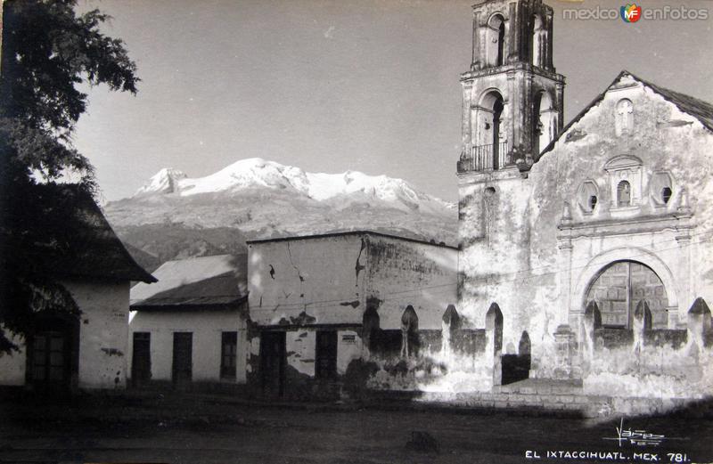
[[[586,291],[585,303],[594,301],[602,316],[602,327],[632,329],[636,307],[642,302],[652,313],[652,329],[668,326],[668,295],[659,275],[634,260],[606,265]]]

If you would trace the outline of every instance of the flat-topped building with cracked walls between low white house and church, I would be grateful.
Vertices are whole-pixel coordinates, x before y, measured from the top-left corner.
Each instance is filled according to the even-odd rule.
[[[367,387],[353,378],[365,362],[393,384],[387,370],[440,349],[456,259],[453,247],[380,232],[248,241],[250,384],[267,396],[339,395]]]

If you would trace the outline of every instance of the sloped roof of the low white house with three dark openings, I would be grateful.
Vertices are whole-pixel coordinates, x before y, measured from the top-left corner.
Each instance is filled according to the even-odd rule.
[[[157,283],[139,283],[131,289],[131,309],[206,309],[240,303],[248,297],[247,268],[245,255],[168,261],[154,272]]]

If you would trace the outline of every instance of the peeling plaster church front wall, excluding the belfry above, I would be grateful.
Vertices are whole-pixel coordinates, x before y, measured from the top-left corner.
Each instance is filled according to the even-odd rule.
[[[618,119],[623,99],[633,103],[628,131]],[[659,325],[684,330],[695,297],[713,297],[711,151],[713,135],[700,121],[625,75],[527,176],[514,169],[461,175],[459,312],[483,327],[496,302],[504,354],[514,353],[528,330],[532,374],[552,377],[555,330],[567,324],[581,343],[589,284],[606,265],[632,260],[651,267],[666,287],[668,317]],[[641,163],[617,167],[617,157]],[[622,208],[616,191],[624,178],[632,204]],[[671,180],[668,202],[662,178]],[[583,199],[583,191],[595,192],[594,208],[586,201],[592,193]],[[660,358],[653,349],[642,355],[651,358],[644,363]],[[623,356],[602,362],[614,367]],[[678,357],[668,359],[674,366]]]

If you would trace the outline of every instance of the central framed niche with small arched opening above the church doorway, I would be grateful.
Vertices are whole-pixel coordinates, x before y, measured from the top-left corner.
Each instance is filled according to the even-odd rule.
[[[631,211],[641,205],[642,164],[635,156],[621,155],[604,165],[609,176],[612,214]]]

